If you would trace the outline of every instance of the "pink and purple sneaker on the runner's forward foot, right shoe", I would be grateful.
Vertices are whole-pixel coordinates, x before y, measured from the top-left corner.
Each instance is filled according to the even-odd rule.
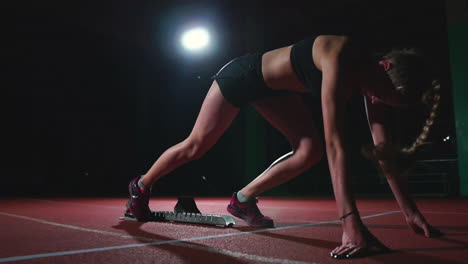
[[[241,203],[237,200],[237,193],[234,193],[227,211],[235,217],[244,219],[252,227],[273,227],[273,219],[264,216],[257,207],[258,200]]]

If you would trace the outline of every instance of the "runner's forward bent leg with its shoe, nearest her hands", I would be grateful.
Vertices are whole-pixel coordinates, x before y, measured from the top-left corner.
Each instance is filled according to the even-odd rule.
[[[260,212],[255,197],[316,164],[322,157],[323,144],[313,113],[299,95],[273,96],[252,105],[288,139],[293,151],[276,160],[260,176],[235,193],[227,210],[250,226],[271,227],[273,220]]]

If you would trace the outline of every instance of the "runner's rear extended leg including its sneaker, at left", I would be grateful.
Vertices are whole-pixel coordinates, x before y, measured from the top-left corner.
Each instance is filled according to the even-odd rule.
[[[188,138],[166,150],[141,179],[137,177],[130,182],[130,199],[126,214],[133,215],[138,221],[150,220],[148,203],[151,186],[177,167],[203,156],[218,141],[238,113],[239,108],[226,101],[218,83],[214,81]]]

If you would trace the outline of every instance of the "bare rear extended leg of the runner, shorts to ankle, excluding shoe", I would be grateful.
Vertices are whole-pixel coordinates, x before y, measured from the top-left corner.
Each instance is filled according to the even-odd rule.
[[[218,83],[214,81],[190,135],[166,150],[144,175],[142,183],[152,186],[160,177],[203,156],[224,134],[238,113],[239,108],[226,101]]]

